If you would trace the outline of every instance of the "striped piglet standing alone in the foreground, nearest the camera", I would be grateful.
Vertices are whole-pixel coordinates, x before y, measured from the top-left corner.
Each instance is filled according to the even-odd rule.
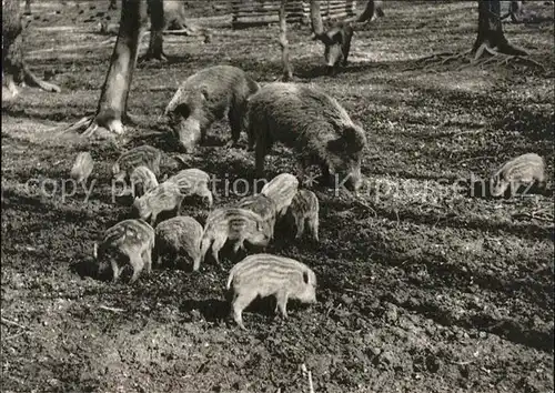
[[[316,302],[316,274],[304,263],[271,254],[249,255],[235,264],[225,288],[232,293],[233,319],[241,329],[245,329],[243,310],[258,296],[274,295],[275,312],[284,319],[289,299]]]

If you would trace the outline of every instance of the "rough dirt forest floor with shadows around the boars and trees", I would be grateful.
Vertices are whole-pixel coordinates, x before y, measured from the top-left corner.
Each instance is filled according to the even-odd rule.
[[[225,24],[200,3],[189,2],[192,22]],[[367,183],[364,204],[314,188],[319,244],[278,232],[269,251],[315,271],[319,302],[291,303],[282,321],[272,300],[261,301],[244,313],[248,332],[230,320],[226,273],[211,263],[200,273],[157,269],[133,285],[88,271],[93,243],[129,216],[125,201],[111,198],[119,151],[153,144],[165,153],[163,173],[175,172],[161,115],[180,81],[216,63],[273,81],[278,28],[214,28],[210,43],[167,37],[170,61],[134,73],[129,104],[139,124],[89,144],[56,127],[94,111],[114,40],[97,33],[98,22],[119,12],[103,13],[108,1],[33,3],[27,58],[62,92],[22,88],[2,105],[2,392],[309,392],[303,364],[319,393],[553,391],[553,196],[464,192],[468,179],[526,152],[545,158],[552,189],[553,73],[512,63],[417,67],[472,47],[475,1],[385,3],[385,17],[355,33],[351,63],[335,78],[323,75],[309,27],[290,28],[299,82],[325,89],[364,127]],[[504,29],[553,69],[553,22]],[[224,149],[225,122],[210,135],[189,167],[230,181],[253,175],[251,153]],[[97,162],[93,192],[62,198],[81,150]],[[275,149],[269,174],[293,163]],[[218,191],[216,205],[240,199]],[[201,222],[208,213],[194,201],[184,210]],[[224,258],[225,266],[240,256]]]

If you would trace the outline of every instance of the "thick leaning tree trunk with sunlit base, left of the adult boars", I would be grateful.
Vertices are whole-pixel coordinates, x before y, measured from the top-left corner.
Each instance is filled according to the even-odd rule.
[[[139,54],[139,41],[147,20],[147,0],[123,0],[118,40],[94,118],[95,125],[115,133],[123,132],[121,120],[122,117],[127,117],[127,103]]]

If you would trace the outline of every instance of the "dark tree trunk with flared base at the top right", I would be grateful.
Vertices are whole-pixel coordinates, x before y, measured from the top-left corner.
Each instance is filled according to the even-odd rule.
[[[528,54],[525,50],[513,47],[505,38],[501,22],[500,0],[478,0],[478,34],[472,52],[475,59],[481,58],[484,52],[516,56]]]

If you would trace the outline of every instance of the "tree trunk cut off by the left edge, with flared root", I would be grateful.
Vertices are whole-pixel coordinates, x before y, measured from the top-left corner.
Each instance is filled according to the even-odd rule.
[[[8,89],[3,99],[18,94],[16,84],[27,83],[46,91],[59,92],[60,88],[37,78],[23,59],[23,27],[21,24],[19,0],[2,0],[2,90]]]

